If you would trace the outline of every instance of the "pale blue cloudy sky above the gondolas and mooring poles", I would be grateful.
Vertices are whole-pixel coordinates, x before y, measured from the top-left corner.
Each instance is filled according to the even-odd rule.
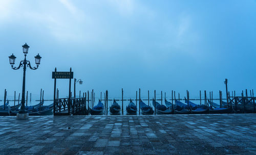
[[[26,89],[53,96],[51,72],[74,70],[78,90],[108,89],[134,97],[136,90],[172,90],[193,98],[199,90],[240,93],[255,88],[256,1],[0,1],[0,96],[21,92],[22,69],[8,56],[42,57],[27,70]],[[72,84],[73,86],[73,84]],[[60,95],[68,80],[58,80]],[[72,87],[73,89],[73,87]],[[191,98],[190,97],[190,98]],[[3,98],[3,97],[1,97]]]

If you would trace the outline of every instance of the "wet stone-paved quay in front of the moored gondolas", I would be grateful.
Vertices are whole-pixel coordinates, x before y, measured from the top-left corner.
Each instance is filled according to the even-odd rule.
[[[0,117],[0,154],[256,154],[256,115]]]

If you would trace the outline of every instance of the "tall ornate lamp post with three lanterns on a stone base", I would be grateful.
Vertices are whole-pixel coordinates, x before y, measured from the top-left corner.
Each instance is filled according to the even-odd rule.
[[[15,59],[16,57],[12,54],[9,57],[9,61],[11,64],[12,69],[17,70],[20,67],[23,67],[23,86],[22,86],[22,106],[20,107],[20,111],[18,112],[18,114],[21,115],[20,118],[26,119],[28,118],[28,112],[25,110],[25,80],[26,80],[26,69],[27,67],[29,67],[32,70],[35,70],[38,68],[40,61],[41,61],[41,57],[39,56],[39,54],[37,56],[35,56],[35,64],[36,67],[31,67],[30,61],[28,61],[26,59],[27,54],[28,54],[28,50],[29,50],[29,46],[27,45],[27,43],[25,43],[23,46],[23,53],[24,53],[24,60],[20,61],[19,66],[18,67],[13,67],[13,65],[15,64]],[[17,114],[17,118],[19,117]]]

